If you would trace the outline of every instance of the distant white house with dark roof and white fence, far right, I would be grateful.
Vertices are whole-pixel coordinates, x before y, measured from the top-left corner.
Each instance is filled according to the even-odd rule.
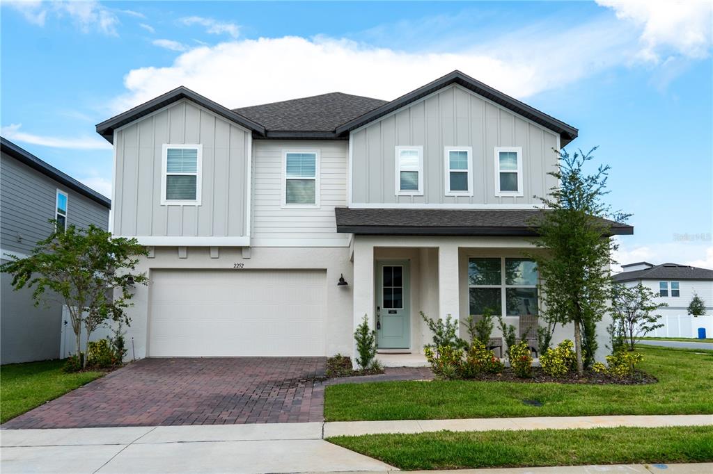
[[[652,290],[657,302],[668,306],[657,310],[664,327],[650,333],[658,337],[697,337],[698,328],[703,327],[707,337],[713,335],[713,270],[697,268],[678,263],[654,265],[637,262],[622,265],[622,273],[612,278],[617,283],[635,286],[639,283]],[[706,305],[706,315],[688,315],[688,305],[693,295],[698,295]]]

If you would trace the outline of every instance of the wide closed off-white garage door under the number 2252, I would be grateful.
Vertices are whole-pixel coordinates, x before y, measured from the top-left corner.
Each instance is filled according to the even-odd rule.
[[[151,357],[323,356],[323,270],[154,270]]]

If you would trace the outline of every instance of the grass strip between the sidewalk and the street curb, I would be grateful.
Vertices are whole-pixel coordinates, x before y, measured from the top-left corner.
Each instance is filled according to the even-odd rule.
[[[338,436],[330,441],[400,469],[713,461],[713,429],[591,428]]]

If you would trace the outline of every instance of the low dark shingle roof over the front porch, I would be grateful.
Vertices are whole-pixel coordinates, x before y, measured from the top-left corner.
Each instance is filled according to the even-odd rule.
[[[536,236],[538,209],[334,209],[337,232],[362,235]],[[634,228],[607,221],[612,234]]]

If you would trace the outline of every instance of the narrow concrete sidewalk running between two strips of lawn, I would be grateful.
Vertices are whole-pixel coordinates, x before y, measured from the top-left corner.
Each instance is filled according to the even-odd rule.
[[[429,431],[543,430],[615,428],[616,426],[713,426],[713,415],[533,416],[531,418],[465,418],[460,420],[332,421],[324,438],[378,433]]]

